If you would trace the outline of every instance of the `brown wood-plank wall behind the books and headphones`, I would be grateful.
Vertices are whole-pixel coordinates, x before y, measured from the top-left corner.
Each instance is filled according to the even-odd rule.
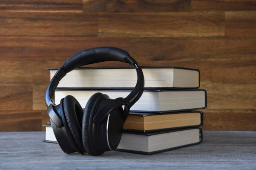
[[[256,1],[0,1],[0,131],[40,131],[48,67],[96,46],[201,70],[204,129],[256,130]],[[122,65],[116,62],[94,66]]]

